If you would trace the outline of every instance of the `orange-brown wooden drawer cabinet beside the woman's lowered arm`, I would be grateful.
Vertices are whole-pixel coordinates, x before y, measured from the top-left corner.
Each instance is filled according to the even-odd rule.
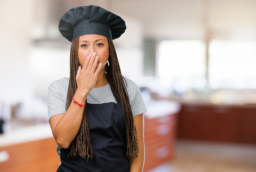
[[[173,158],[176,132],[176,115],[147,118],[144,121],[145,164],[144,172]]]

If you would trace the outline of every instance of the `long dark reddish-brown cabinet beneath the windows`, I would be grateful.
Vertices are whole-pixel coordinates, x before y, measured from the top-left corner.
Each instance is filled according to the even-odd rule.
[[[256,144],[256,107],[183,104],[180,139]]]

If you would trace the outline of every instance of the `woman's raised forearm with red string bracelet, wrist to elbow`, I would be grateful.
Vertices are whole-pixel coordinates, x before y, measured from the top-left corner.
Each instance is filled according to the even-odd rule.
[[[82,105],[85,105],[86,97],[87,94],[84,94],[78,89],[74,94],[74,100]],[[62,148],[68,148],[68,146],[78,133],[83,119],[84,108],[84,106],[80,107],[78,104],[71,102],[66,113],[56,124],[53,135],[57,144]]]

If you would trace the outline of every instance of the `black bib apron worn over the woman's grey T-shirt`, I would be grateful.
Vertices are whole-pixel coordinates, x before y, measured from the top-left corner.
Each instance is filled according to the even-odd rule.
[[[120,101],[113,95],[117,104],[85,102],[93,159],[87,162],[80,156],[68,158],[70,147],[61,148],[61,165],[57,172],[129,172],[124,113]]]

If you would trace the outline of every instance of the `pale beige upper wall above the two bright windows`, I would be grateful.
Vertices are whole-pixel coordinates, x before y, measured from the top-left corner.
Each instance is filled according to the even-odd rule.
[[[256,32],[255,0],[88,0],[84,5],[88,4],[137,20],[150,38],[204,39],[206,29],[211,34]]]

